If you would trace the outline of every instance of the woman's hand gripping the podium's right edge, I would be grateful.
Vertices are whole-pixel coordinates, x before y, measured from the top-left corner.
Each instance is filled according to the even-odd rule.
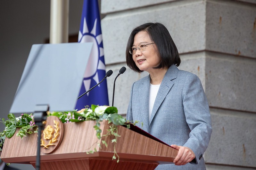
[[[173,160],[175,165],[185,165],[195,158],[194,152],[188,147],[178,146],[176,144],[172,144],[171,147],[179,150],[176,158]]]

